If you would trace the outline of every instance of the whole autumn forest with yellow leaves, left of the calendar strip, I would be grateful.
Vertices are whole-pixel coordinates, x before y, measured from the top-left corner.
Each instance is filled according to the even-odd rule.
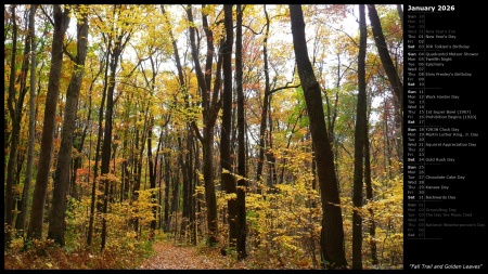
[[[3,13],[5,270],[403,269],[402,5]]]

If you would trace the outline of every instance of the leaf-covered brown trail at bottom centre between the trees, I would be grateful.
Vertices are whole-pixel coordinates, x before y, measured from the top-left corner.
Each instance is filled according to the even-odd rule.
[[[176,246],[170,242],[158,242],[154,244],[155,255],[147,258],[139,269],[218,270],[232,268],[230,258],[222,257],[215,249],[204,249],[205,251],[198,251],[194,246]]]

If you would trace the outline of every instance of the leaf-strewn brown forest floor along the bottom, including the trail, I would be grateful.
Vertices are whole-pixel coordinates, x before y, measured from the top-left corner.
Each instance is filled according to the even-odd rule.
[[[39,242],[23,250],[22,239],[4,249],[4,270],[282,270],[311,269],[275,260],[269,253],[252,252],[237,261],[235,251],[222,256],[218,247],[190,246],[159,238],[137,248],[113,245],[102,252],[81,248],[68,251]]]

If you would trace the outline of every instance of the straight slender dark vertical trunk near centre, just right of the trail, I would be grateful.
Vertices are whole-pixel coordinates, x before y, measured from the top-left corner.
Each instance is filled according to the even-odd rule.
[[[244,92],[242,80],[242,8],[236,4],[237,18],[235,29],[235,84],[237,90],[237,260],[247,257],[246,253],[246,152],[244,142]]]

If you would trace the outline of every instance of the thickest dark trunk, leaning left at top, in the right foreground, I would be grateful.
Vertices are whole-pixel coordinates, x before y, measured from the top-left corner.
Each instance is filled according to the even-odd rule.
[[[341,269],[347,265],[344,251],[343,217],[333,154],[323,115],[321,90],[308,57],[301,5],[291,4],[290,14],[295,57],[300,82],[304,87],[314,156],[317,166],[321,167],[317,171],[323,214],[320,240],[322,265],[326,269]]]

